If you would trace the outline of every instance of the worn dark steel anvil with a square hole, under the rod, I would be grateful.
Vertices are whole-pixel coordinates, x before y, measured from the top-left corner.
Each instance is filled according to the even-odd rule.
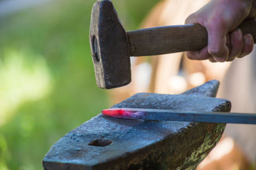
[[[215,96],[206,91],[216,92],[216,84],[216,81],[205,83],[198,89],[199,95],[198,90],[181,95],[135,94],[113,107],[230,111],[228,100],[202,95]],[[55,143],[45,155],[43,166],[45,169],[193,169],[216,145],[224,129],[225,124],[124,120],[99,114]]]

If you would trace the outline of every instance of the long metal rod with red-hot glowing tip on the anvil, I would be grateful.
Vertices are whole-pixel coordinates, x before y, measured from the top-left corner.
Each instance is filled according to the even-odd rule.
[[[109,117],[166,120],[181,122],[214,122],[229,124],[256,124],[255,113],[230,113],[230,112],[198,112],[198,111],[172,111],[137,108],[111,108],[102,110],[102,114]]]

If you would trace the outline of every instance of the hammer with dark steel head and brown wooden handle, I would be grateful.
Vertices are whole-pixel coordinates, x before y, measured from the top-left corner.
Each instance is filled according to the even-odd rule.
[[[256,40],[255,18],[245,20],[239,29]],[[200,24],[170,25],[126,32],[113,4],[98,0],[93,4],[90,46],[97,86],[122,87],[131,82],[130,56],[159,55],[193,51],[207,45],[207,31]]]

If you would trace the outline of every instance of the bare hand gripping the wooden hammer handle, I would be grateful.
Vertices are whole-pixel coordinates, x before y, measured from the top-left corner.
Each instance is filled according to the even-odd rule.
[[[232,61],[252,52],[253,38],[237,26],[246,18],[256,16],[255,0],[212,0],[186,18],[186,24],[198,23],[208,33],[208,45],[187,52],[189,59],[211,62]]]

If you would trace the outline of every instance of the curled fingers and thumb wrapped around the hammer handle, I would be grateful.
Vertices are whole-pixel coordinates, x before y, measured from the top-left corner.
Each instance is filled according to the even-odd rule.
[[[214,18],[212,18],[214,20]],[[196,13],[186,18],[186,24],[201,23]],[[192,60],[210,60],[211,62],[232,61],[248,55],[253,50],[253,38],[250,34],[243,35],[241,29],[227,34],[225,23],[210,22],[215,25],[204,25],[208,32],[208,45],[198,51],[187,52]],[[217,23],[217,24],[216,24]]]

